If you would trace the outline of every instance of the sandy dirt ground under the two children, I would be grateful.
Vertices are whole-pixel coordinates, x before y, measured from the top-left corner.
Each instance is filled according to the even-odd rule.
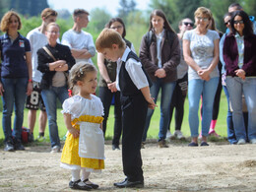
[[[105,145],[105,169],[93,173],[97,191],[256,191],[255,145],[210,143],[187,147],[171,142],[160,149],[156,141],[142,150],[145,188],[117,189],[113,182],[124,178],[121,151]],[[50,154],[49,144],[26,147],[24,152],[0,151],[0,191],[72,191],[69,170],[59,166],[61,154]]]

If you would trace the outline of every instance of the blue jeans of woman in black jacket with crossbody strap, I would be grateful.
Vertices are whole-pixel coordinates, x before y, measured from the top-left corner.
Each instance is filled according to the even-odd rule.
[[[50,135],[50,143],[51,147],[59,146],[59,133],[58,133],[58,125],[56,122],[57,119],[57,98],[59,98],[61,104],[67,99],[68,96],[68,88],[64,87],[50,87],[48,90],[42,90],[41,96],[43,102],[45,104],[46,113],[48,117],[48,125],[49,125],[49,135]]]

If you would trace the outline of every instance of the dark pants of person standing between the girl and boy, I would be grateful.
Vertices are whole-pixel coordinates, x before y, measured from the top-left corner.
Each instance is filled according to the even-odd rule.
[[[105,135],[106,123],[109,114],[109,108],[114,96],[114,136],[113,145],[119,145],[119,140],[122,134],[122,111],[120,103],[120,92],[111,93],[107,87],[99,87],[98,96],[101,99],[104,107],[104,120],[102,122],[103,133]]]

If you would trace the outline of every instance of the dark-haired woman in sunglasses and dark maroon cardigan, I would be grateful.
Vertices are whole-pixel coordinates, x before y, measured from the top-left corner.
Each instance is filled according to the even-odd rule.
[[[248,139],[256,144],[256,35],[244,11],[232,13],[231,32],[224,39],[226,87],[232,105],[237,144],[246,143],[242,95],[248,109]]]

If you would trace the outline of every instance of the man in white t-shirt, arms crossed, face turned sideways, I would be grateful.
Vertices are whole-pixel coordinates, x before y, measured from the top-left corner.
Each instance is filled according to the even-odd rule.
[[[76,62],[87,61],[92,64],[91,57],[96,54],[96,46],[93,36],[89,32],[82,31],[89,23],[89,13],[84,9],[76,9],[73,13],[74,26],[62,35],[62,44],[70,47]]]

